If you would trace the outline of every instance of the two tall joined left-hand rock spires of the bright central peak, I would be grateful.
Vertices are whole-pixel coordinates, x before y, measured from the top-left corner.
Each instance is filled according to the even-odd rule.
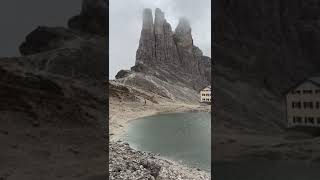
[[[159,8],[155,9],[154,22],[151,9],[144,9],[136,64],[152,66],[160,62],[168,62],[171,65],[179,63],[171,25],[166,21],[164,13]]]

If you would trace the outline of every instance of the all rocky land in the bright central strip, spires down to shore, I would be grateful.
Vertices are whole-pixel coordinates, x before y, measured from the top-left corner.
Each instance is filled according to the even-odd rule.
[[[210,81],[211,59],[193,44],[189,22],[181,19],[173,32],[160,9],[154,19],[145,9],[135,66],[109,81],[110,178],[210,179],[200,169],[120,143],[130,120],[164,112],[210,112],[211,106],[199,104],[199,90]]]

